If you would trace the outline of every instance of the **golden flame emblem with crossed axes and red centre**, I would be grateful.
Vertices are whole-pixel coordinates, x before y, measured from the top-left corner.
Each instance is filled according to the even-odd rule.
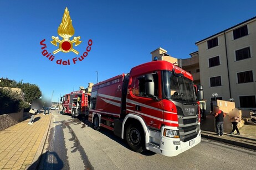
[[[74,46],[78,46],[82,41],[79,41],[80,36],[74,36],[73,40],[69,40],[71,36],[75,34],[75,29],[72,25],[72,20],[69,15],[68,8],[65,8],[63,17],[62,17],[62,23],[60,23],[58,28],[58,34],[63,38],[63,40],[59,40],[59,36],[52,36],[53,41],[50,41],[53,45],[58,46],[57,43],[59,43],[59,49],[53,51],[53,54],[56,54],[59,51],[62,52],[74,52],[76,55],[79,54],[78,51],[73,49]]]

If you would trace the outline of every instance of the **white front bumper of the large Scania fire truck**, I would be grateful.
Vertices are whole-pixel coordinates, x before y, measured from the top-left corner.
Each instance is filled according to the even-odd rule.
[[[164,156],[177,156],[201,142],[201,130],[199,130],[197,136],[194,139],[191,139],[187,142],[182,142],[180,139],[173,139],[166,136],[160,137],[160,141],[160,145],[158,146],[151,145],[150,143],[146,146],[148,146],[150,151],[159,153]],[[175,145],[173,143],[175,141],[180,142],[180,145]]]

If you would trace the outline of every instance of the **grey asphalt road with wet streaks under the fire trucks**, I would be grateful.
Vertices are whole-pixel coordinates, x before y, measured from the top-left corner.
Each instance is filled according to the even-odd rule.
[[[135,153],[111,131],[58,110],[39,169],[256,169],[256,152],[202,139],[176,157]]]

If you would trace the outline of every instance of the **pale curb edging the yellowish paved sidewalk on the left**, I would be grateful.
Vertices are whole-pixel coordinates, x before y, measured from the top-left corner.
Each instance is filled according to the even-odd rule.
[[[45,145],[45,141],[47,140],[47,136],[48,136],[48,132],[49,132],[49,128],[50,128],[50,123],[52,122],[52,114],[49,114],[50,116],[50,120],[49,120],[49,123],[44,131],[44,136],[43,136],[43,139],[42,141],[40,142],[40,145],[37,149],[37,152],[35,153],[35,156],[34,156],[34,159],[32,161],[32,163],[27,166],[25,169],[38,169],[38,165],[39,165],[39,162],[40,162],[40,158],[41,158],[41,155],[43,153],[43,148],[44,148],[44,145]]]

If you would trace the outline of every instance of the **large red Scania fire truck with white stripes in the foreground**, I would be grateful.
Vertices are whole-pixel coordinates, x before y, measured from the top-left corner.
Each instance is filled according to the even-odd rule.
[[[135,152],[176,156],[201,141],[203,87],[167,61],[136,66],[93,86],[89,121],[114,131]]]

